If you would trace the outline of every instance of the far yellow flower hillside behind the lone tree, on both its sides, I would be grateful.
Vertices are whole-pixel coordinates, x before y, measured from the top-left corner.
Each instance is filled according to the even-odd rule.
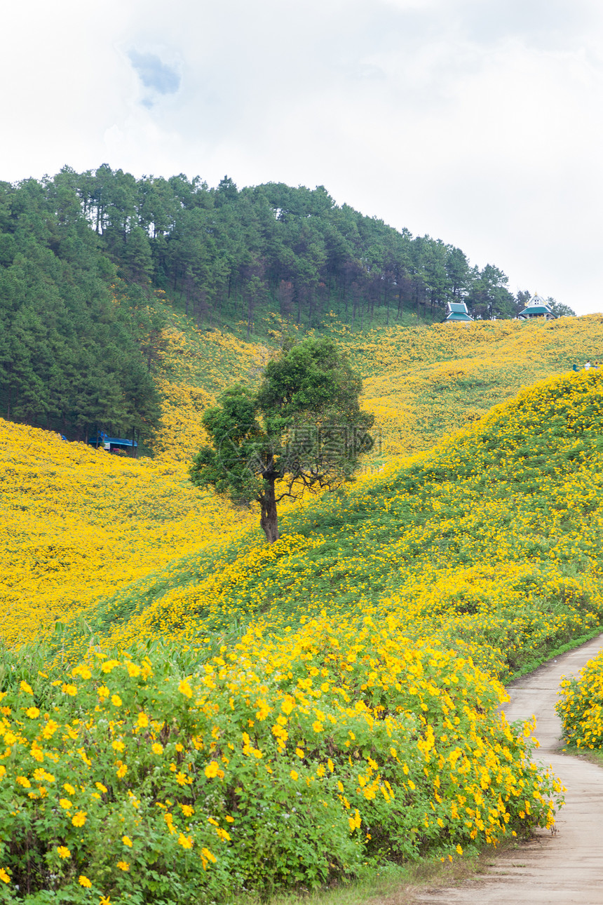
[[[463,329],[407,326],[361,336],[337,323],[330,329],[361,370],[363,404],[382,431],[382,449],[366,462],[365,477],[389,468],[391,453],[427,449],[473,424],[522,384],[587,357],[603,358],[598,316]],[[155,433],[155,462],[109,457],[53,433],[0,423],[9,643],[31,639],[40,625],[69,620],[178,557],[255,524],[252,513],[195,491],[185,466],[204,440],[204,407],[233,379],[257,379],[271,348],[193,328],[174,315],[157,357],[155,379],[167,403]]]

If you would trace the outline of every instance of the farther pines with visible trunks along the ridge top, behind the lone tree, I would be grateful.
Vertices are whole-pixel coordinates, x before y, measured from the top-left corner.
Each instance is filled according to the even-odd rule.
[[[224,176],[211,188],[199,176],[136,179],[107,165],[65,168],[52,186],[62,222],[90,224],[121,276],[153,281],[200,325],[242,321],[249,337],[267,303],[307,327],[330,310],[361,329],[405,310],[441,320],[464,298],[479,317],[515,313],[502,271],[335,205],[324,186],[239,190]]]

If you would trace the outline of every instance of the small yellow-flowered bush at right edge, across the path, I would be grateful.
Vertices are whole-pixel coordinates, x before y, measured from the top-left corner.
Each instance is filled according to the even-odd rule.
[[[570,745],[603,748],[603,652],[561,681],[557,712]]]

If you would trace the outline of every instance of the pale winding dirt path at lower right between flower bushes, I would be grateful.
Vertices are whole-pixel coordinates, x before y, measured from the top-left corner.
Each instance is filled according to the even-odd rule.
[[[541,666],[509,688],[504,711],[510,721],[538,720],[539,760],[551,763],[566,786],[559,832],[539,831],[532,843],[493,858],[478,880],[456,889],[426,890],[419,902],[440,905],[603,905],[603,769],[561,753],[561,723],[555,714],[561,675],[577,673],[603,647],[603,635]]]

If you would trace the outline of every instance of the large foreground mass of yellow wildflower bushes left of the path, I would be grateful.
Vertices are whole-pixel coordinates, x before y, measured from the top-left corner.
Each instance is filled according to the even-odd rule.
[[[266,896],[550,825],[561,786],[531,762],[532,726],[508,726],[470,660],[399,627],[250,630],[188,677],[165,651],[91,652],[56,679],[14,658],[0,895]]]

